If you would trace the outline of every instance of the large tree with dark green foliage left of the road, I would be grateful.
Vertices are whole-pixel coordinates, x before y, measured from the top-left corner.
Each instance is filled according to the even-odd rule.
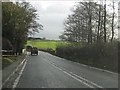
[[[31,4],[2,2],[2,41],[9,40],[14,52],[21,54],[27,36],[43,28],[37,20],[37,10]]]

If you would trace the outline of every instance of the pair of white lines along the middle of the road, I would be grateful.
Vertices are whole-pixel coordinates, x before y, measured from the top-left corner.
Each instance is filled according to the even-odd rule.
[[[44,60],[44,61],[46,61],[46,60]],[[46,62],[49,63],[49,64],[51,64],[53,67],[59,69],[60,71],[64,72],[65,74],[69,75],[70,77],[74,78],[75,80],[77,80],[77,81],[85,84],[86,86],[88,86],[90,88],[95,88],[95,87],[97,87],[97,88],[103,88],[100,85],[93,83],[92,81],[89,81],[89,80],[87,80],[87,79],[85,79],[83,77],[80,77],[80,76],[78,76],[78,75],[76,75],[76,74],[74,74],[72,72],[67,72],[67,71],[63,70],[62,68],[56,66],[55,64],[51,63],[50,61],[46,61]]]

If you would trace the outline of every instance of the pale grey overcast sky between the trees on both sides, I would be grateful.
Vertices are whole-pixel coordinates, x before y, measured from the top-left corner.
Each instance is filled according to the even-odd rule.
[[[80,0],[79,0],[80,1]],[[45,37],[47,39],[59,39],[59,35],[64,31],[63,22],[69,14],[71,8],[78,0],[55,0],[55,1],[33,1],[30,3],[37,9],[38,22],[44,26],[43,31],[34,34],[34,37]]]

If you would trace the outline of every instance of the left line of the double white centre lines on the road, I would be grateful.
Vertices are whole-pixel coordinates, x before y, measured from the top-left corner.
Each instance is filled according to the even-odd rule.
[[[46,61],[46,60],[44,60],[44,61]],[[47,62],[47,61],[46,61]],[[73,76],[73,75],[71,75],[70,73],[68,73],[68,72],[66,72],[65,70],[63,70],[63,69],[61,69],[61,68],[59,68],[59,67],[57,67],[57,66],[55,66],[54,64],[52,64],[52,63],[50,63],[50,62],[47,62],[47,63],[49,63],[50,65],[52,65],[53,67],[55,67],[55,68],[57,68],[57,69],[59,69],[60,71],[62,71],[63,73],[65,73],[65,74],[67,74],[68,76],[70,76],[70,77],[72,77],[73,79],[75,79],[75,80],[77,80],[77,81],[79,81],[79,82],[81,82],[82,84],[84,84],[84,85],[86,85],[86,86],[88,86],[88,87],[90,87],[90,88],[95,88],[94,86],[92,86],[92,85],[89,85],[88,83],[86,83],[85,81],[83,81],[83,80],[80,80],[79,78],[77,78],[77,77],[75,77],[75,76]]]

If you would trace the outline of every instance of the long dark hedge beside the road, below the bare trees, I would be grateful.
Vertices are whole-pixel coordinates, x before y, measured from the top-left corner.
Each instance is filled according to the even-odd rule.
[[[118,71],[118,42],[58,46],[56,55],[91,66]]]

